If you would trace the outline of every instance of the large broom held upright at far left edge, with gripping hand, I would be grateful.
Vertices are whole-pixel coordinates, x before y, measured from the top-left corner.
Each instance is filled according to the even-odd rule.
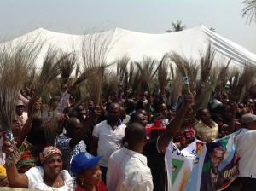
[[[30,39],[32,40],[32,39]],[[0,127],[6,138],[12,143],[14,153],[8,154],[7,165],[15,165],[20,159],[20,153],[14,145],[11,133],[15,119],[15,101],[32,63],[36,61],[42,44],[35,39],[17,44],[4,43],[0,47]]]

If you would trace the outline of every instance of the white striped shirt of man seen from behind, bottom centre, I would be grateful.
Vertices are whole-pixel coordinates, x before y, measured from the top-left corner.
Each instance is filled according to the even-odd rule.
[[[114,152],[108,162],[107,188],[109,191],[153,190],[147,158],[127,148]]]

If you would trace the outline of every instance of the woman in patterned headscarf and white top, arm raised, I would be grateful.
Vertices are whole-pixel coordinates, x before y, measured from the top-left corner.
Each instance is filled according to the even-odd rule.
[[[4,141],[4,145],[7,147],[3,147],[3,151],[8,158],[14,151],[9,148],[9,141]],[[15,188],[73,191],[72,177],[66,170],[62,170],[61,151],[58,148],[45,147],[40,153],[40,161],[41,166],[32,167],[25,174],[18,173],[15,163],[9,161],[9,165],[6,165],[9,185]]]

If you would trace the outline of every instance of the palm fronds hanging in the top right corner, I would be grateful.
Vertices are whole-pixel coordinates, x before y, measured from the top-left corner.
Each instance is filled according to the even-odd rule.
[[[245,0],[242,3],[246,5],[246,7],[241,10],[242,17],[247,17],[249,25],[253,20],[256,23],[256,0]]]

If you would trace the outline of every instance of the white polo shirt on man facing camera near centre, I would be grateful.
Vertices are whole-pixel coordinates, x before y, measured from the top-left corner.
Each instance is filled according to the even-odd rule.
[[[96,124],[92,136],[99,139],[97,154],[102,155],[99,164],[108,167],[108,160],[113,152],[121,148],[125,136],[125,124],[119,125],[115,130],[107,123],[107,120]]]

